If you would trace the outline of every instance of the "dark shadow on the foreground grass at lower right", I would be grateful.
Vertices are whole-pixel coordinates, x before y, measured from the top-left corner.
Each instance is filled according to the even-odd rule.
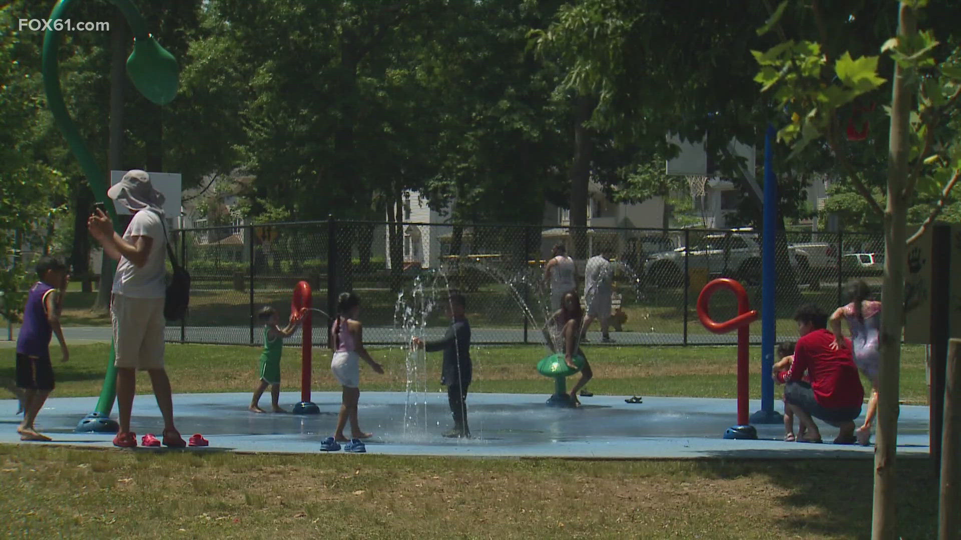
[[[780,497],[780,503],[798,511],[784,519],[800,535],[871,537],[874,454],[854,456],[828,449],[817,452],[817,458],[812,458],[809,450],[798,451],[798,455],[782,454],[786,458],[771,459],[763,451],[718,452],[699,461],[698,469],[717,479],[761,475],[788,490],[790,494]],[[927,455],[899,456],[896,497],[900,537],[934,538],[938,488]]]

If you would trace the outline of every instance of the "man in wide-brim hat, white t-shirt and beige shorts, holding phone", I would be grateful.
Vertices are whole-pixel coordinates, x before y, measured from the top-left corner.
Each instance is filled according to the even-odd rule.
[[[163,444],[184,447],[186,442],[174,427],[170,380],[163,366],[163,300],[166,295],[163,225],[163,194],[154,188],[150,175],[138,169],[128,171],[111,186],[108,196],[129,209],[134,217],[123,236],[113,232],[111,218],[100,209],[86,221],[90,234],[106,253],[116,259],[111,294],[115,366],[117,368],[117,412],[120,430],[115,446],[136,447],[136,433],[130,430],[131,409],[136,393],[136,371],[146,371],[163,416]],[[144,437],[145,439],[147,437]],[[150,435],[153,439],[153,435]]]

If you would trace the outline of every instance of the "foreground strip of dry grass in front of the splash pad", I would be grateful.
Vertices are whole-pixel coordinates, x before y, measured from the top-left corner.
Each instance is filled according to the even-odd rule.
[[[0,531],[35,538],[866,538],[870,460],[569,461],[0,446]],[[938,485],[899,459],[902,538]]]

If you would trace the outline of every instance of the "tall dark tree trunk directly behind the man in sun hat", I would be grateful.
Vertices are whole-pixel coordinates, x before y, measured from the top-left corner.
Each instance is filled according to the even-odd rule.
[[[107,174],[120,168],[123,154],[123,94],[127,84],[127,23],[119,14],[113,15],[111,24],[111,126],[110,144],[107,154]],[[110,185],[111,179],[107,178]],[[86,227],[85,227],[86,229]],[[95,311],[106,311],[111,302],[113,290],[113,261],[103,255],[100,265],[100,288],[93,305]]]

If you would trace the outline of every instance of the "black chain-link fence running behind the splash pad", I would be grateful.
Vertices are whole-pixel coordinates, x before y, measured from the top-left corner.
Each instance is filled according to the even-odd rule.
[[[263,226],[188,229],[173,234],[193,279],[190,310],[170,323],[170,341],[262,343],[261,307],[287,313],[293,287],[306,281],[313,307],[333,313],[336,294],[361,299],[364,341],[400,344],[411,326],[429,338],[449,324],[442,300],[467,299],[476,344],[542,343],[551,313],[544,267],[563,244],[574,258],[577,290],[584,293],[588,258],[611,259],[613,293],[609,335],[619,345],[733,343],[736,334],[707,332],[696,304],[704,284],[729,277],[742,282],[752,307],[761,307],[761,234],[748,230],[435,225],[328,220]],[[795,309],[813,302],[846,304],[843,287],[863,279],[880,290],[881,233],[780,233],[776,238],[776,331],[796,338]],[[333,293],[333,294],[332,294]],[[323,329],[326,313],[314,313]],[[718,292],[715,320],[736,314],[736,301]],[[405,331],[407,329],[407,332]],[[315,345],[326,331],[313,332]],[[587,332],[602,340],[601,325]],[[760,341],[756,325],[752,340]]]

